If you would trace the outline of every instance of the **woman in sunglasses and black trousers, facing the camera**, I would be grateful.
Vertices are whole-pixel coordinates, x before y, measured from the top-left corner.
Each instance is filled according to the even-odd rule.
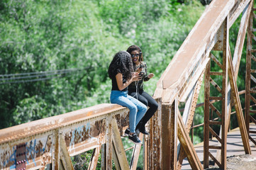
[[[144,117],[140,120],[136,127],[136,131],[142,132],[145,135],[149,135],[149,133],[145,130],[145,124],[152,118],[155,111],[157,111],[158,104],[152,96],[150,96],[147,92],[143,89],[143,81],[149,81],[154,74],[148,74],[147,64],[143,62],[143,53],[140,50],[140,47],[137,45],[131,45],[126,50],[130,53],[130,56],[133,60],[133,69],[135,72],[138,72],[141,79],[139,81],[133,81],[128,86],[128,94],[137,98],[138,101],[141,101],[145,104],[145,106],[149,106],[148,111],[145,113]],[[126,130],[128,133],[128,130]]]

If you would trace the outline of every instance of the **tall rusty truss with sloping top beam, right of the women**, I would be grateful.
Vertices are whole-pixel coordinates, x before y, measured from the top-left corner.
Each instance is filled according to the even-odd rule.
[[[162,98],[163,108],[179,106],[179,104],[174,103],[185,103],[183,118],[181,118],[179,109],[174,109],[177,112],[169,113],[170,123],[167,124],[172,125],[170,130],[174,135],[169,137],[173,140],[162,137],[162,140],[170,145],[169,152],[162,146],[162,149],[165,149],[165,152],[162,150],[162,157],[171,155],[168,158],[171,161],[170,163],[163,162],[162,169],[181,169],[184,155],[187,156],[192,169],[203,169],[194,152],[191,140],[187,136],[193,121],[194,108],[203,76],[205,101],[204,168],[208,167],[209,158],[211,158],[221,169],[226,169],[226,139],[232,107],[235,108],[237,115],[245,154],[251,153],[248,138],[249,125],[250,120],[255,123],[255,119],[249,113],[256,113],[254,110],[249,111],[250,102],[248,102],[249,100],[255,102],[255,98],[252,97],[255,90],[253,90],[253,85],[249,85],[253,83],[255,85],[256,82],[252,76],[255,70],[250,68],[250,59],[254,59],[251,53],[256,52],[256,50],[252,50],[252,40],[256,40],[252,34],[255,31],[252,28],[252,21],[255,18],[253,4],[254,1],[212,1],[158,81],[154,96]],[[229,30],[238,18],[240,19],[240,28],[235,50],[231,52]],[[245,122],[236,80],[246,32],[247,76],[245,84],[247,94],[245,96],[247,101]],[[218,54],[218,57],[214,54]],[[211,70],[211,64],[218,65],[219,69]],[[253,82],[250,83],[250,81]],[[212,92],[210,93],[210,91]],[[210,118],[211,112],[216,118]],[[162,114],[165,115],[167,112],[163,111]],[[163,120],[163,123],[165,121],[167,120]],[[214,126],[218,126],[220,132],[214,131]],[[210,145],[210,135],[216,137],[218,145]],[[253,140],[252,137],[250,140]],[[177,147],[179,142],[181,147]],[[211,151],[213,150],[217,151],[216,155],[212,154]]]

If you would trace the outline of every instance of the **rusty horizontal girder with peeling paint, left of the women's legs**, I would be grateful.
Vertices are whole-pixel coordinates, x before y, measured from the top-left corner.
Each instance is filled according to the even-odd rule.
[[[15,168],[16,145],[24,142],[27,146],[27,169],[42,169],[48,164],[52,164],[52,169],[61,169],[60,134],[65,138],[69,156],[100,147],[109,141],[104,166],[107,169],[108,164],[112,164],[112,139],[108,135],[111,135],[112,129],[109,121],[114,116],[118,120],[119,131],[123,132],[128,125],[128,111],[128,108],[118,105],[101,104],[0,130],[0,169]]]

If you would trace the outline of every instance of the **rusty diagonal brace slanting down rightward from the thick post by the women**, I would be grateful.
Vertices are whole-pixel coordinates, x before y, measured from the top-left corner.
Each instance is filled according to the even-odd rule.
[[[187,154],[187,159],[192,169],[203,169],[201,166],[201,162],[199,157],[197,157],[196,150],[194,149],[193,143],[190,140],[190,137],[187,133],[186,127],[182,121],[182,115],[180,113],[178,115],[177,125],[178,125],[178,137],[179,141],[182,144],[182,148],[184,152]]]

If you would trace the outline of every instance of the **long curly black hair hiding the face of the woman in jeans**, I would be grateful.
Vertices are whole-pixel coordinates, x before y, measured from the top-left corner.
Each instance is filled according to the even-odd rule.
[[[108,77],[113,79],[116,74],[123,74],[123,78],[130,79],[133,74],[133,62],[130,54],[125,51],[117,52],[108,67]]]

